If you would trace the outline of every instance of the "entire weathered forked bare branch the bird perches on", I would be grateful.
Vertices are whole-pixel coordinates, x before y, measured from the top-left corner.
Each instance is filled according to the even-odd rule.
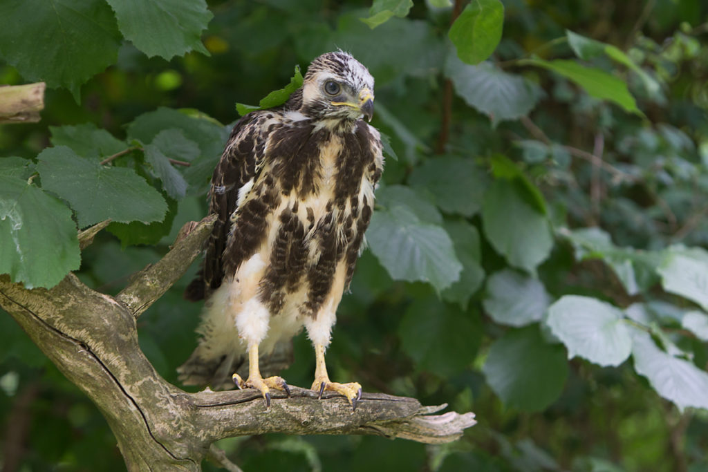
[[[25,289],[0,275],[0,306],[98,406],[128,470],[199,471],[207,454],[226,464],[212,443],[246,434],[378,434],[440,443],[474,425],[474,413],[432,415],[445,405],[421,407],[414,398],[382,393],[365,393],[353,413],[341,396],[326,393],[318,400],[313,391],[293,386],[291,398],[275,392],[266,410],[250,389],[188,393],[165,381],[139,348],[136,319],[199,255],[214,220],[185,225],[171,251],[115,298],[89,289],[74,274],[52,289]],[[79,234],[82,247],[95,234]]]

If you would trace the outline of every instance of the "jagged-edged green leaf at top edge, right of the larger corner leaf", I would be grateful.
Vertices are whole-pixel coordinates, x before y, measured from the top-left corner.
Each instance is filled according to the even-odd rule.
[[[200,38],[213,15],[204,0],[107,1],[125,39],[148,57],[169,61],[192,50],[209,55]]]

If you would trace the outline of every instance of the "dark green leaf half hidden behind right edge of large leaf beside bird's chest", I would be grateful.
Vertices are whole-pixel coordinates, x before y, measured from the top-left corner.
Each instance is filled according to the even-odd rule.
[[[445,231],[452,238],[455,255],[462,263],[459,280],[442,292],[442,299],[452,301],[467,310],[470,297],[481,286],[484,280],[484,269],[481,266],[481,249],[479,248],[479,232],[467,221],[445,221]]]

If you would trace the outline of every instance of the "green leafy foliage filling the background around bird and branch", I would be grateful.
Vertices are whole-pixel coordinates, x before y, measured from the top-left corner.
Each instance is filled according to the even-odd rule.
[[[0,83],[50,86],[42,122],[0,127],[0,272],[28,284],[76,269],[77,223],[114,217],[76,273],[117,293],[205,216],[235,103],[337,48],[375,76],[372,124],[399,159],[339,309],[331,375],[479,424],[445,446],[220,442],[246,472],[708,468],[704,1],[30,4],[0,6]],[[116,185],[91,194],[104,175]],[[20,246],[11,221],[32,228]],[[195,270],[139,321],[172,382],[196,342],[200,306],[181,298]],[[0,315],[0,463],[122,470],[98,410]],[[302,335],[295,357],[283,376],[307,386]]]

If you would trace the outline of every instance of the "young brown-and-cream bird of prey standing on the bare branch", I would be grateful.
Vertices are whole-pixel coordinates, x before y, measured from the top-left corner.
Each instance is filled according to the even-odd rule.
[[[204,265],[185,297],[205,298],[200,341],[178,372],[184,384],[224,379],[289,393],[279,376],[263,378],[259,352],[302,329],[316,355],[312,389],[336,391],[355,409],[356,382],[329,379],[324,352],[336,310],[352,279],[374,189],[383,169],[374,79],[346,52],[312,62],[284,105],[239,120],[212,177],[218,215]],[[248,379],[234,374],[245,355]],[[233,385],[233,384],[232,384]]]

